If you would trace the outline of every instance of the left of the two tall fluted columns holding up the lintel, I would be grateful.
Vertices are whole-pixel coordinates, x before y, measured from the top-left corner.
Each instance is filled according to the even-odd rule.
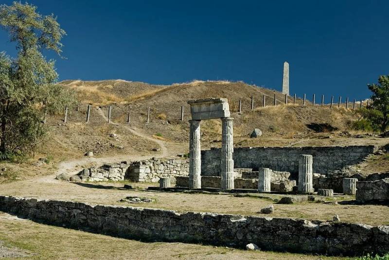
[[[200,121],[189,120],[189,188],[201,188]]]

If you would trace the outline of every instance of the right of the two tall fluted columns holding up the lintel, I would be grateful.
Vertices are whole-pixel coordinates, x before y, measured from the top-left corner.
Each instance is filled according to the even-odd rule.
[[[233,118],[222,117],[222,149],[221,149],[221,175],[222,189],[234,188],[234,152],[233,144]]]

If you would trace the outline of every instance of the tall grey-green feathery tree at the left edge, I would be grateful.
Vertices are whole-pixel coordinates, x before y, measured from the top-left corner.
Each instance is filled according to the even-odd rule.
[[[0,5],[0,25],[16,43],[17,56],[0,53],[0,155],[33,152],[47,130],[47,113],[63,111],[72,94],[56,84],[54,60],[42,52],[61,55],[66,35],[53,15],[41,16],[34,5]]]

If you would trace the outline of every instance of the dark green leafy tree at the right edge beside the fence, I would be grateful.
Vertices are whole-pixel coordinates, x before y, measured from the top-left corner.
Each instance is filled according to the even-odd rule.
[[[368,84],[372,106],[362,110],[362,115],[371,122],[373,129],[384,132],[389,126],[389,75],[381,75],[378,84]]]

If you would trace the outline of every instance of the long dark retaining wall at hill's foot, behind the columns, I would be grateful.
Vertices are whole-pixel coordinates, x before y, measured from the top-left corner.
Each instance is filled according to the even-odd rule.
[[[374,153],[374,146],[347,147],[256,147],[234,148],[235,168],[270,168],[295,174],[299,170],[299,155],[313,156],[313,172],[327,174],[348,165],[360,163]],[[220,149],[201,151],[201,175],[220,176]]]

